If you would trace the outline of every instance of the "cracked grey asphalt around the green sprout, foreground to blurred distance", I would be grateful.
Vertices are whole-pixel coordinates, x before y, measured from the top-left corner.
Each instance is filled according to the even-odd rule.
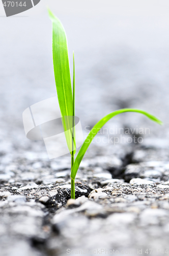
[[[69,200],[70,156],[48,160],[43,141],[28,140],[22,124],[28,106],[56,95],[50,21],[46,14],[2,18],[0,255],[65,256],[80,250],[88,255],[165,255],[168,3],[55,2],[70,56],[75,51],[76,115],[84,137],[85,126],[90,129],[119,108],[147,110],[164,125],[131,113],[107,123],[108,131],[114,127],[115,132],[102,133],[97,137],[101,141],[91,144],[76,176],[76,200]],[[132,131],[116,132],[119,127]],[[139,134],[136,128],[150,132]],[[108,135],[124,139],[105,144]],[[137,143],[124,142],[133,136]]]

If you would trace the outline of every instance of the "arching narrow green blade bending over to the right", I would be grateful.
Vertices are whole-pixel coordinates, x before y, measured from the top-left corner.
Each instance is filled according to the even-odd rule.
[[[116,115],[119,115],[121,113],[125,113],[125,112],[136,112],[136,113],[140,113],[140,114],[143,114],[145,116],[147,116],[149,119],[151,119],[152,121],[156,122],[156,123],[159,123],[159,124],[162,124],[162,122],[157,119],[155,116],[147,113],[146,111],[143,111],[143,110],[137,110],[137,109],[122,109],[122,110],[117,110],[115,112],[112,112],[108,115],[106,115],[105,117],[103,117],[98,123],[95,124],[95,126],[92,128],[92,130],[90,131],[90,133],[88,134],[86,140],[83,142],[78,154],[77,154],[77,157],[74,161],[74,164],[73,164],[73,168],[72,168],[72,172],[71,172],[71,178],[72,179],[75,179],[76,177],[76,173],[77,173],[77,170],[78,170],[78,167],[80,165],[80,162],[83,158],[83,156],[85,155],[90,143],[92,142],[93,138],[96,136],[96,134],[99,132],[99,130],[101,129],[101,127],[108,121],[110,120],[112,117],[116,116]]]

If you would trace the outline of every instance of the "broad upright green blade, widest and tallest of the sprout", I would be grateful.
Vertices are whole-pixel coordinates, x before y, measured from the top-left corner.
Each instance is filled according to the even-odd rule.
[[[72,152],[73,99],[66,32],[60,20],[48,10],[52,22],[54,78],[62,116],[63,128],[70,153]],[[72,154],[72,153],[71,153]]]

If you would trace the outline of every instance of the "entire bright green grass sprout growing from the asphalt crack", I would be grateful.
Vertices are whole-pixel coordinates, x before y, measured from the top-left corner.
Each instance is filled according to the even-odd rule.
[[[71,154],[71,198],[75,199],[75,177],[78,171],[80,162],[85,155],[90,143],[93,138],[102,128],[102,126],[110,120],[112,117],[125,112],[136,112],[147,116],[150,120],[162,124],[162,122],[155,116],[147,113],[143,110],[138,109],[122,109],[114,111],[104,116],[99,122],[97,122],[86,140],[83,142],[76,159],[74,155],[76,152],[75,143],[75,127],[74,127],[74,116],[75,116],[75,68],[74,68],[74,52],[73,52],[73,87],[71,86],[69,58],[68,58],[68,47],[66,32],[61,21],[54,16],[54,14],[48,10],[49,17],[52,22],[52,51],[53,51],[53,68],[55,84],[57,87],[58,101],[60,105],[62,124],[65,132],[65,137],[69,152]],[[72,128],[73,127],[73,131]]]

